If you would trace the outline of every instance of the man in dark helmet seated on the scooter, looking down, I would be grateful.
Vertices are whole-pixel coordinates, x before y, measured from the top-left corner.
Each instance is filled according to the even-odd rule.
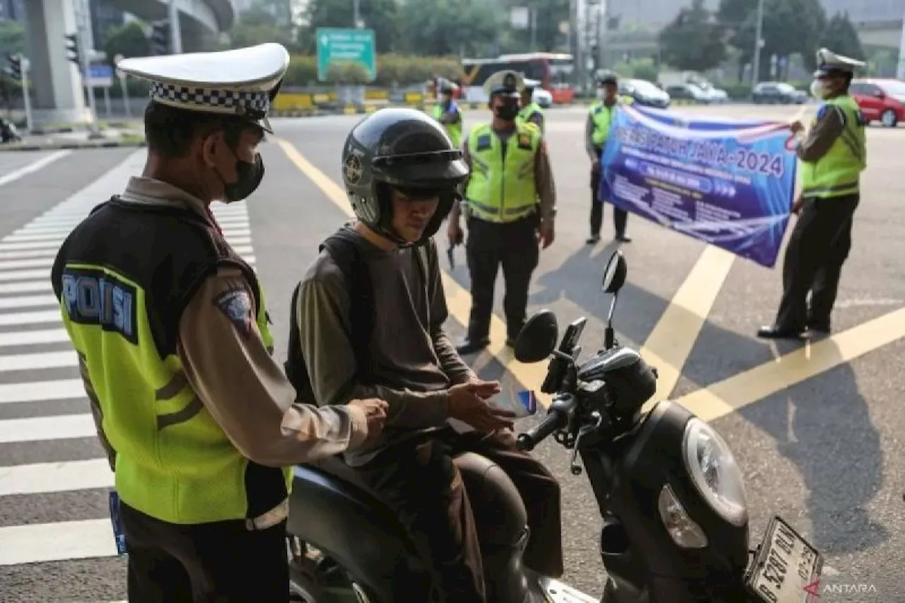
[[[357,245],[365,270],[350,282],[328,247],[301,282],[296,311],[319,404],[372,392],[389,405],[382,436],[346,462],[411,533],[440,600],[486,600],[472,509],[452,463],[464,451],[510,474],[529,512],[526,564],[561,575],[557,481],[515,450],[513,415],[488,402],[499,383],[478,378],[443,330],[448,312],[431,237],[468,175],[462,152],[423,112],[384,109],[349,133],[342,161],[356,220],[340,233]],[[371,317],[364,338],[363,315]]]

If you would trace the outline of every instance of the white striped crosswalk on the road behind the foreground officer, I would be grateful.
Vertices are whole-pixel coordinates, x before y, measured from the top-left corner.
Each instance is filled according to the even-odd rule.
[[[112,487],[113,474],[97,442],[78,356],[63,327],[50,273],[72,229],[91,208],[140,173],[144,160],[143,151],[130,155],[88,187],[0,239],[0,508],[5,510],[0,513],[0,582],[5,583],[5,568],[100,562],[116,556],[103,494]],[[214,204],[212,210],[233,249],[253,266],[246,206]],[[77,498],[81,503],[71,514],[71,497],[89,491],[102,493],[104,503],[97,503],[101,498],[96,495]],[[33,497],[43,498],[32,505]],[[18,519],[20,509],[27,517]],[[80,579],[90,575],[81,573]],[[12,583],[13,592],[4,588],[0,598],[11,595],[18,600],[20,594],[28,598]],[[65,585],[60,592],[52,600],[71,600],[64,594]],[[119,597],[124,594],[125,574]],[[110,592],[108,598],[117,597]]]

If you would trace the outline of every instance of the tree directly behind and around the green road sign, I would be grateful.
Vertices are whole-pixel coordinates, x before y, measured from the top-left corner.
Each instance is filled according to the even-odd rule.
[[[359,3],[359,18],[365,27],[374,30],[378,53],[396,50],[400,38],[396,29],[395,0],[368,0]],[[309,0],[303,12],[308,27],[300,34],[299,42],[307,53],[317,51],[314,33],[318,27],[353,27],[352,0]]]

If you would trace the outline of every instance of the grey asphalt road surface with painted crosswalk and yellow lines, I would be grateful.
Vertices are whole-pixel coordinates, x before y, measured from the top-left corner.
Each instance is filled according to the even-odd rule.
[[[795,114],[795,108],[786,107],[682,111],[776,120]],[[484,111],[471,111],[467,125],[487,118]],[[346,219],[329,198],[330,187],[336,194],[329,180],[340,181],[340,149],[357,119],[274,120],[277,140],[262,148],[267,176],[259,192],[241,208],[217,209],[233,243],[253,256],[278,334],[286,332],[291,289],[317,254],[319,241]],[[580,108],[548,111],[559,206],[557,241],[541,255],[530,304],[532,310],[556,311],[562,324],[587,316],[586,349],[596,349],[607,309],[599,282],[615,245],[610,241],[609,207],[604,240],[585,244],[590,191],[584,119]],[[696,412],[710,413],[712,425],[733,447],[747,480],[752,545],[769,517],[779,513],[824,550],[833,570],[824,577],[824,586],[832,589],[822,594],[822,601],[905,601],[905,464],[896,453],[905,431],[905,413],[900,411],[905,391],[900,375],[905,341],[900,338],[905,330],[903,319],[888,316],[905,307],[900,259],[905,218],[899,205],[905,194],[900,174],[905,131],[872,128],[868,136],[870,168],[862,178],[854,247],[834,313],[839,334],[813,346],[808,352],[813,358],[799,352],[796,360],[777,361],[795,346],[752,337],[776,311],[781,261],[769,270],[741,259],[712,260],[703,244],[636,217],[629,220],[634,242],[622,246],[629,277],[615,315],[621,341],[638,348],[653,346],[658,324],[661,330],[663,324],[676,325],[678,333],[679,327],[701,321],[693,310],[700,301],[686,307],[681,296],[673,300],[691,273],[697,271],[694,282],[701,291],[712,289],[712,303],[704,303],[699,312],[706,321],[696,339],[687,342],[690,353],[679,359],[681,377],[664,395],[698,396],[684,400],[691,400]],[[38,168],[22,172],[39,160],[43,164]],[[3,600],[125,598],[125,562],[113,556],[105,523],[109,472],[94,462],[101,456],[100,446],[86,416],[87,401],[71,381],[78,372],[65,353],[70,348],[61,338],[62,324],[52,315],[46,273],[76,216],[118,192],[142,164],[143,152],[129,149],[0,153]],[[317,170],[326,177],[319,177]],[[451,276],[467,290],[461,248],[457,254]],[[718,274],[719,266],[723,273]],[[453,314],[467,312],[460,299],[451,301]],[[498,312],[501,315],[501,306]],[[846,335],[865,323],[876,326]],[[455,320],[449,330],[455,337],[462,335]],[[674,343],[681,348],[679,339]],[[280,354],[284,348],[278,335]],[[653,346],[652,353],[672,359],[669,349]],[[503,395],[519,387],[513,373],[522,369],[507,370],[487,353],[469,360],[484,377],[503,380]],[[733,380],[765,363],[772,366],[754,373],[759,381]],[[824,365],[832,368],[820,370]],[[700,397],[702,391],[718,391],[733,408],[714,410],[719,405],[709,407],[709,398]],[[764,395],[749,400],[750,391]],[[605,581],[596,552],[600,520],[586,479],[569,473],[568,454],[557,445],[544,445],[537,454],[562,481],[566,580],[597,595]],[[852,585],[866,592],[854,594]]]

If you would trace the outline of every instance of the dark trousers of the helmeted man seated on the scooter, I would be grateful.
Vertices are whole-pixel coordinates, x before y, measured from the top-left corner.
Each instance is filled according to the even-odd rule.
[[[442,601],[487,600],[472,507],[462,474],[452,463],[452,456],[462,452],[491,459],[518,488],[530,530],[525,565],[554,578],[563,573],[559,484],[544,465],[515,450],[514,442],[511,432],[485,438],[448,429],[396,445],[356,468],[411,534]]]

